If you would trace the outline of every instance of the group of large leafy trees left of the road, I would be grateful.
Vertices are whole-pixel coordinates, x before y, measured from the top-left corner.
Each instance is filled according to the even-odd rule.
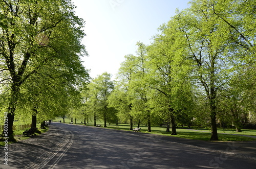
[[[81,104],[89,74],[74,8],[70,0],[0,2],[0,121],[10,141],[14,120],[36,127]]]

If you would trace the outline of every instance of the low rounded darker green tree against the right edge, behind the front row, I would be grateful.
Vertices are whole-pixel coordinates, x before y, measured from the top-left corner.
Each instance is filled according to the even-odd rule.
[[[237,132],[248,123],[249,113],[255,111],[252,106],[255,105],[255,76],[251,70],[250,67],[234,71],[229,84],[220,93],[221,115],[225,123],[236,127]]]

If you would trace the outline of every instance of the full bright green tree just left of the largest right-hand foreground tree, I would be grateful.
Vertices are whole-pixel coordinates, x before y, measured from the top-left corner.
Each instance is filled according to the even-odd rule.
[[[185,38],[176,31],[176,21],[163,24],[160,34],[154,37],[154,43],[148,47],[147,80],[152,92],[151,105],[155,112],[167,123],[172,124],[172,135],[176,135],[175,118],[178,112],[191,107],[191,87],[188,80],[190,60],[184,49]],[[190,103],[189,103],[190,102]]]

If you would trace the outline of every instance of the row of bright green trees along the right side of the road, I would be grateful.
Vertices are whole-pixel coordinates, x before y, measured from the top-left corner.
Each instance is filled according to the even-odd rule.
[[[106,122],[206,125],[255,123],[255,1],[194,0],[137,43],[116,81],[104,73],[88,85],[86,116]],[[114,87],[113,87],[114,84]]]

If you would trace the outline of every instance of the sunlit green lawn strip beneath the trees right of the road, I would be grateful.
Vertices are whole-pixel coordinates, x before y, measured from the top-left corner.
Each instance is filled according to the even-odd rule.
[[[98,122],[98,124],[101,124],[101,127],[104,125],[103,122]],[[83,125],[83,124],[82,124]],[[92,123],[87,124],[88,126],[93,126]],[[107,125],[109,129],[115,129],[115,130],[126,130],[129,131],[130,125],[129,124],[118,124],[118,125]],[[133,128],[136,128],[137,126],[134,125]],[[147,126],[140,126],[140,132],[147,133]],[[200,130],[187,130],[187,129],[176,129],[177,135],[170,135],[170,133],[166,132],[166,128],[164,127],[151,127],[151,134],[159,134],[159,135],[165,135],[170,137],[180,137],[180,138],[187,138],[187,139],[196,139],[196,140],[205,140],[208,141],[211,137],[210,130],[200,128]],[[132,131],[131,131],[132,132]],[[228,133],[228,134],[222,134],[222,133]],[[242,132],[236,132],[234,129],[219,129],[218,130],[218,137],[219,141],[251,141],[256,140],[256,138],[251,137],[245,137],[240,135],[230,135],[230,134],[242,134],[242,135],[252,135],[256,136],[256,130],[242,130]]]

